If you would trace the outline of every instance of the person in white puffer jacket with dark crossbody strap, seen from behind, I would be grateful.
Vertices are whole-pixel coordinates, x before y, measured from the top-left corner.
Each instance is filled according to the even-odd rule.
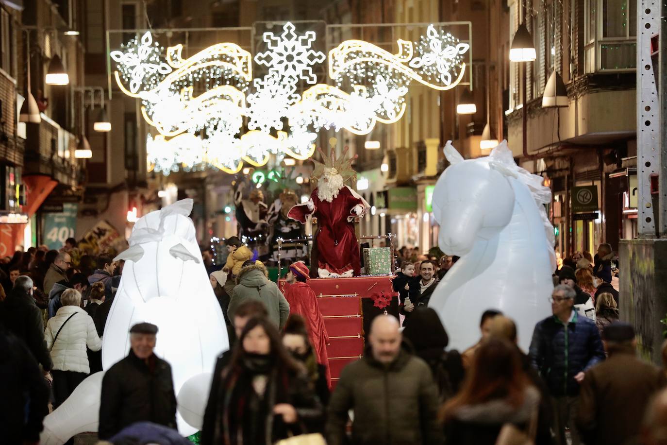
[[[60,297],[63,307],[49,319],[45,338],[53,360],[53,396],[57,408],[90,373],[86,346],[102,348],[93,319],[79,308],[81,294],[67,289]]]

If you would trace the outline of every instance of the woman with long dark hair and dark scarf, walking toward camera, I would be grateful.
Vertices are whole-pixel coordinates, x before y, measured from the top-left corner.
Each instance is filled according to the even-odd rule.
[[[303,434],[322,409],[303,366],[266,318],[251,318],[222,372],[213,443],[266,445]]]

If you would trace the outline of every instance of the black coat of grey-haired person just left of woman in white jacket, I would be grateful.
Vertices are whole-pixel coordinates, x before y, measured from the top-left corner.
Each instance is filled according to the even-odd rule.
[[[31,296],[13,289],[0,304],[0,321],[9,332],[25,342],[42,368],[51,370],[53,362],[44,340],[43,314]]]

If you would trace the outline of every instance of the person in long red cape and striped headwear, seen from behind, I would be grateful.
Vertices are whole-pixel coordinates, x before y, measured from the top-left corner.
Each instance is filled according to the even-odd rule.
[[[289,303],[289,313],[299,314],[305,320],[308,329],[308,338],[313,349],[317,362],[327,367],[327,381],[331,381],[329,372],[329,356],[327,355],[327,343],[329,335],[324,326],[324,319],[319,312],[317,297],[315,292],[308,286],[307,280],[309,270],[302,261],[295,262],[289,266],[289,272],[285,276],[285,282],[289,284],[285,288],[285,300]]]

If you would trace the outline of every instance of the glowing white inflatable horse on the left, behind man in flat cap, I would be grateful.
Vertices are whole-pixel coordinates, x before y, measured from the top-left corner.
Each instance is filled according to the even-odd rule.
[[[171,364],[183,436],[201,428],[215,358],[229,349],[225,320],[188,217],[192,205],[192,199],[183,199],[137,221],[130,248],[116,258],[125,260],[125,268],[102,338],[102,365],[108,370],[127,356],[133,324],[158,326],[155,354]],[[45,418],[42,445],[97,431],[104,372],[89,376]]]

